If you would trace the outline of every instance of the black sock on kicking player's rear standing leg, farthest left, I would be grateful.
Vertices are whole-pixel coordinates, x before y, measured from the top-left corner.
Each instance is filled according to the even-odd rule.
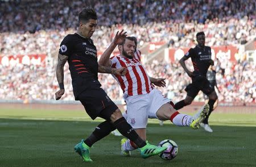
[[[92,132],[92,134],[84,141],[86,145],[89,147],[92,147],[94,143],[96,143],[98,140],[101,140],[103,137],[108,136],[110,132],[114,131],[115,127],[114,125],[106,120],[105,122],[100,123],[95,130]]]

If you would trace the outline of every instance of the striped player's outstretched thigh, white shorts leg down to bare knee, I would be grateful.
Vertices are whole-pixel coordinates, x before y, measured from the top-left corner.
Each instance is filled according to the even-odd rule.
[[[167,97],[165,97],[164,95],[162,95],[162,92],[157,90],[157,89],[153,89],[150,92],[150,108],[149,108],[149,113],[148,113],[148,118],[155,118],[155,119],[160,119],[163,120],[163,112],[165,114],[169,113],[169,110],[166,107],[166,104],[170,105],[170,99],[168,99]],[[161,118],[159,118],[159,113],[161,115]],[[166,120],[166,119],[164,119]]]

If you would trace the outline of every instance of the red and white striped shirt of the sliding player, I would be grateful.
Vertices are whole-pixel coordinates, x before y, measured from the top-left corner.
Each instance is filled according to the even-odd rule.
[[[127,68],[125,76],[112,75],[121,86],[123,93],[126,95],[147,94],[153,89],[150,84],[145,68],[138,59],[128,59],[126,57],[111,57],[112,68]]]

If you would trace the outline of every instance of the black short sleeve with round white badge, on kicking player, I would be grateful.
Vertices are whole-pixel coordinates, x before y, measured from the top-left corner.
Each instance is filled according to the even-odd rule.
[[[71,35],[67,35],[64,37],[63,41],[61,41],[59,49],[60,55],[70,56],[72,54],[73,41],[71,37]]]

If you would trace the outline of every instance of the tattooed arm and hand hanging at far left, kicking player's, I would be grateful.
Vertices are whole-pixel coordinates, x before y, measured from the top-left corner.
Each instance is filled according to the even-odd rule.
[[[56,68],[56,77],[57,77],[57,81],[60,86],[60,90],[55,93],[56,100],[59,100],[65,92],[65,90],[64,90],[64,65],[67,62],[67,60],[68,60],[68,56],[61,55],[59,53],[57,68]]]

